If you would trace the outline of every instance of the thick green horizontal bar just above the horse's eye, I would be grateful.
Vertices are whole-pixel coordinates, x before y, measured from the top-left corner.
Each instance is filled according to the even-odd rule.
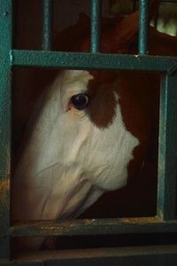
[[[58,67],[75,69],[108,69],[171,71],[177,65],[177,57],[154,57],[140,55],[90,54],[38,50],[11,52],[12,65]]]

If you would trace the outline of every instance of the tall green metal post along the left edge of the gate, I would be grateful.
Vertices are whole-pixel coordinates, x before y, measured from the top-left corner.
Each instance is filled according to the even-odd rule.
[[[0,1],[0,262],[10,259],[12,0]]]

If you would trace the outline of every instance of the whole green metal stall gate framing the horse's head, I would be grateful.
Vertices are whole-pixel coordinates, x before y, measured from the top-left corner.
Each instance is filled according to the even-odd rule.
[[[175,216],[177,171],[177,58],[154,57],[148,51],[148,6],[140,1],[139,54],[99,52],[101,1],[91,1],[90,53],[50,51],[50,0],[43,0],[43,50],[12,48],[12,0],[0,0],[0,264],[14,263],[11,238],[19,236],[71,236],[177,232]],[[40,66],[76,69],[141,70],[163,72],[161,79],[158,206],[156,217],[39,222],[12,226],[10,221],[12,67]],[[116,247],[47,255],[18,261],[20,265],[176,265],[177,246]]]

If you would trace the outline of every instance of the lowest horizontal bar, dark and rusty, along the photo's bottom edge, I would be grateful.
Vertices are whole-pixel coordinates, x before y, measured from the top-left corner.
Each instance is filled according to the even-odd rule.
[[[22,254],[16,256],[14,258],[14,261],[5,265],[8,266],[15,263],[16,266],[176,266],[176,250],[176,245],[169,245],[147,247],[82,248],[59,251],[33,251],[33,254],[30,252],[23,252]]]

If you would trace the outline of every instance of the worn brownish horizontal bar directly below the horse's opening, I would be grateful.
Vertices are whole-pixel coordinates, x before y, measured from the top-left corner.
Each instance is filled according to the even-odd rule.
[[[177,221],[164,222],[156,217],[89,219],[58,222],[19,223],[11,227],[12,237],[73,236],[147,232],[177,232]]]

